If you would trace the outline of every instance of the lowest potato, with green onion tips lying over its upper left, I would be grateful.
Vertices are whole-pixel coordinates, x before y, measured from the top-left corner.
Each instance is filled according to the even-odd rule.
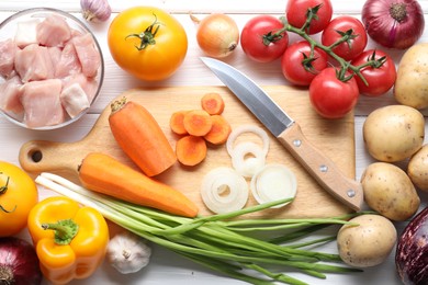
[[[345,225],[337,235],[341,260],[356,267],[381,264],[397,240],[394,225],[380,215],[362,215],[350,221],[359,225]]]

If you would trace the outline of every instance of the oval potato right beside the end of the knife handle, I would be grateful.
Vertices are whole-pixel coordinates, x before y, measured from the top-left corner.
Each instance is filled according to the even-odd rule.
[[[418,209],[420,198],[406,172],[401,168],[374,162],[362,173],[365,203],[392,220],[406,220]]]

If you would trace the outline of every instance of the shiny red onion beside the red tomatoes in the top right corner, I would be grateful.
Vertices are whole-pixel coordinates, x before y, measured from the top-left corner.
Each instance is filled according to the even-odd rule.
[[[424,12],[417,0],[368,0],[362,22],[373,41],[385,47],[405,49],[424,33]]]

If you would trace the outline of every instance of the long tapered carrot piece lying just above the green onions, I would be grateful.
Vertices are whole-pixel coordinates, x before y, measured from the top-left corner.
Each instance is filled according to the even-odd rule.
[[[101,152],[91,152],[83,159],[79,167],[79,179],[89,190],[115,198],[174,215],[198,215],[196,205],[180,191]]]

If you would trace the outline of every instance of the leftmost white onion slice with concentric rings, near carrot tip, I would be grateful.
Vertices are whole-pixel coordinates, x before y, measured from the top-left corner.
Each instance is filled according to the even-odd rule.
[[[234,169],[216,168],[204,176],[201,196],[205,206],[216,214],[241,209],[248,201],[248,184]]]

